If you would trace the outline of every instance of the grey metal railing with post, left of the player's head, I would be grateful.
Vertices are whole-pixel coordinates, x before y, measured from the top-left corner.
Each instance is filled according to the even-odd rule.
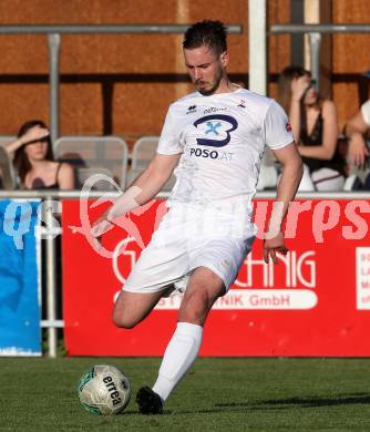
[[[47,34],[49,45],[49,101],[50,101],[50,135],[52,142],[59,137],[59,59],[62,39],[61,34],[182,34],[189,24],[157,25],[0,25],[0,34]],[[230,34],[241,34],[239,24],[226,25]]]

